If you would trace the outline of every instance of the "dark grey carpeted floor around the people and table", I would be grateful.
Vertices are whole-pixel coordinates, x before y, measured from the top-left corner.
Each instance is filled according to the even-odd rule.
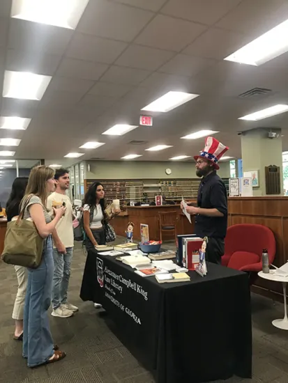
[[[123,240],[119,239],[120,242]],[[167,247],[167,246],[165,246]],[[79,298],[85,256],[77,244],[70,280],[70,302],[79,306],[72,318],[50,317],[55,343],[67,352],[63,361],[36,369],[26,367],[22,344],[13,341],[11,313],[16,292],[13,267],[0,263],[0,382],[1,383],[150,383],[153,377],[114,335],[109,317]],[[288,332],[271,320],[282,317],[282,305],[252,295],[252,383],[288,383]],[[191,383],[192,383],[191,377]],[[234,377],[225,381],[251,382]],[[190,383],[190,382],[179,382]]]

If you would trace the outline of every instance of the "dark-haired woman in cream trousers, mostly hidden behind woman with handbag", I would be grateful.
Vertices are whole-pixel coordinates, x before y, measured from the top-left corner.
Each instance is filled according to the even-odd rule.
[[[19,215],[19,206],[25,194],[25,189],[28,183],[28,177],[15,178],[10,196],[6,203],[7,221],[10,222],[13,217]],[[23,339],[23,316],[24,303],[27,287],[26,267],[14,266],[18,281],[18,290],[14,303],[12,318],[15,320],[14,339],[22,341]]]

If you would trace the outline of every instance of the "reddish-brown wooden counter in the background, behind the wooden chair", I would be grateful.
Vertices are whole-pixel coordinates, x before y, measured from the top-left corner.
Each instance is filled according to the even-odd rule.
[[[191,234],[194,232],[194,220],[192,224],[183,215],[180,205],[162,205],[162,206],[128,206],[126,212],[121,212],[111,222],[117,235],[125,236],[128,222],[134,224],[134,238],[140,240],[140,224],[149,225],[149,237],[151,240],[160,239],[159,216],[158,212],[174,212],[178,213],[176,224],[176,232],[178,234]],[[171,233],[162,232],[162,240],[174,240]]]

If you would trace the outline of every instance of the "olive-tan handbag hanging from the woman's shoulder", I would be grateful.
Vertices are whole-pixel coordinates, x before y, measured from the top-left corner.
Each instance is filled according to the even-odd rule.
[[[31,198],[31,197],[30,197]],[[27,198],[16,221],[7,224],[2,260],[9,265],[36,269],[42,260],[44,240],[35,224],[23,219],[30,198]]]

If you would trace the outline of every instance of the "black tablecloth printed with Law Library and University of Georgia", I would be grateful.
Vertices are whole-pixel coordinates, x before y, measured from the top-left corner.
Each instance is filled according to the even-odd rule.
[[[248,274],[207,267],[204,278],[189,272],[190,282],[160,284],[90,251],[80,297],[103,305],[158,383],[251,377]]]

